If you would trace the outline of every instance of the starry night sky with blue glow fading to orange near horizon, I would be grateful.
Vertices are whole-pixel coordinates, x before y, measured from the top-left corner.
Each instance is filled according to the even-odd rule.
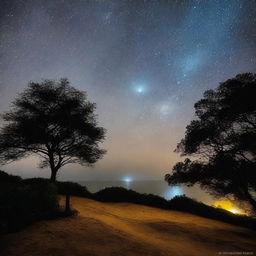
[[[163,179],[205,90],[255,72],[254,0],[1,0],[0,110],[28,81],[67,77],[96,102],[108,150],[62,180]],[[49,177],[28,158],[1,169]]]

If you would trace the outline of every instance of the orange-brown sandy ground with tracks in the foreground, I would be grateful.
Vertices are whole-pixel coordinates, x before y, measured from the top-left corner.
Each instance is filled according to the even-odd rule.
[[[256,255],[256,232],[245,228],[130,203],[71,202],[78,216],[5,235],[0,255]]]

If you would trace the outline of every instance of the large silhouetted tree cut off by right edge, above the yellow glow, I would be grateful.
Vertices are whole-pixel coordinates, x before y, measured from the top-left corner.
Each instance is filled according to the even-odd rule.
[[[247,201],[256,212],[256,74],[237,75],[195,104],[169,184],[200,184],[215,196]]]

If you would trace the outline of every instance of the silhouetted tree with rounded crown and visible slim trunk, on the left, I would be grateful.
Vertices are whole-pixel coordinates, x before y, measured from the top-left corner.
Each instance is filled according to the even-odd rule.
[[[37,154],[39,167],[51,168],[52,181],[66,164],[92,165],[105,153],[98,146],[105,130],[97,126],[94,110],[95,104],[67,79],[30,82],[2,115],[1,162]]]

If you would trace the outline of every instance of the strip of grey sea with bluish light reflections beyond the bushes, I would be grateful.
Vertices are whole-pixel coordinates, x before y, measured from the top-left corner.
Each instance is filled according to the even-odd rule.
[[[79,183],[92,193],[107,187],[124,187],[139,193],[158,195],[167,200],[180,195],[186,195],[208,205],[212,205],[216,200],[199,186],[169,186],[164,180],[79,181]]]

